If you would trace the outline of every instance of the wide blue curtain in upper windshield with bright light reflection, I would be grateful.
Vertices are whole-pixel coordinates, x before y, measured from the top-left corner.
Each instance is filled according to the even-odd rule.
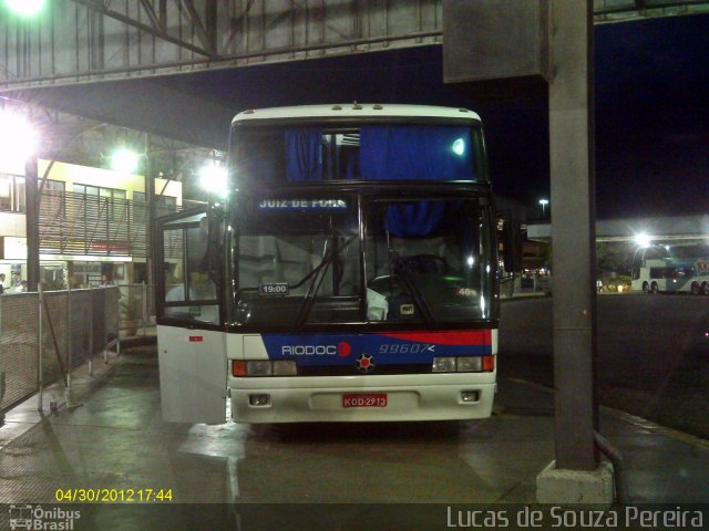
[[[363,180],[473,180],[467,127],[362,125],[360,173]]]

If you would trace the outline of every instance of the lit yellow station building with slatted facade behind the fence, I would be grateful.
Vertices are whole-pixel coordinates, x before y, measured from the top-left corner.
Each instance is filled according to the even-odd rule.
[[[27,279],[24,167],[0,167],[0,272],[7,289]],[[145,177],[39,159],[40,280],[44,289],[146,281]],[[42,177],[47,175],[42,187]],[[157,215],[182,207],[182,183],[155,179]]]

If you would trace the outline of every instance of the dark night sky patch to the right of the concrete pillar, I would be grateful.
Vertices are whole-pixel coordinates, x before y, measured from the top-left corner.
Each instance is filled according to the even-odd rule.
[[[599,215],[706,214],[709,17],[596,30]]]

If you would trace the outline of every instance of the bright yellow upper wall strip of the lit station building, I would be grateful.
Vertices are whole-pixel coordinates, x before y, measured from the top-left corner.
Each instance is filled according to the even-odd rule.
[[[40,179],[44,176],[49,164],[49,160],[39,159]],[[91,168],[75,164],[55,162],[48,178],[66,183],[66,191],[72,191],[72,185],[100,186],[103,188],[126,190],[129,192],[127,199],[131,200],[133,199],[134,191],[145,191],[145,178],[142,175],[125,174],[103,168]],[[163,189],[165,183],[165,179],[155,179],[156,194]],[[176,197],[177,205],[182,205],[182,183],[177,183],[176,180],[167,181],[167,187],[163,195]]]

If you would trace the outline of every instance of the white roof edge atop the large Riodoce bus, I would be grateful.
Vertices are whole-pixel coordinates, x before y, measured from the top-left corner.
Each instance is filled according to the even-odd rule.
[[[480,116],[467,108],[433,105],[402,105],[372,103],[341,103],[330,105],[299,105],[248,110],[237,114],[232,123],[247,119],[331,118],[331,117],[411,116],[431,118],[467,118],[480,122]]]

